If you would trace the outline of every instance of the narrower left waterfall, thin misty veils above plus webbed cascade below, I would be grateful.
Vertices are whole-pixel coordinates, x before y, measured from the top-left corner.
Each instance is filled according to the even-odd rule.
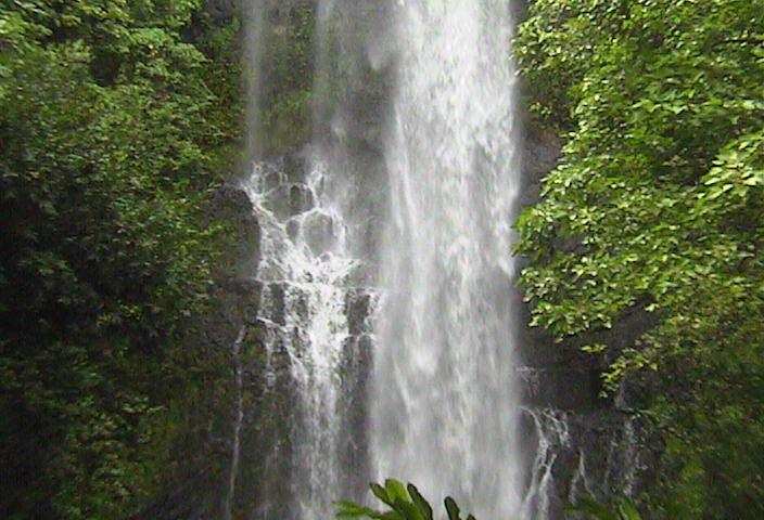
[[[361,3],[371,5],[364,11]],[[366,480],[362,435],[369,324],[373,306],[367,287],[369,270],[359,251],[367,250],[370,204],[359,196],[348,141],[355,140],[351,99],[362,87],[364,46],[357,25],[375,0],[318,0],[280,4],[247,0],[245,64],[249,70],[247,153],[255,157],[241,182],[260,227],[262,284],[258,322],[269,374],[266,398],[278,402],[264,468],[273,468],[258,484],[258,518],[318,520],[332,515],[332,503],[358,498]],[[295,167],[263,160],[259,121],[260,82],[267,61],[264,48],[283,36],[280,16],[313,9],[317,22],[314,49],[314,139]],[[360,10],[359,10],[360,9]],[[294,157],[292,157],[294,159]],[[367,176],[368,177],[368,176]],[[368,190],[368,185],[365,186]],[[373,206],[373,204],[371,204]],[[286,377],[284,377],[286,375]],[[284,427],[283,424],[288,426]],[[235,466],[225,503],[230,517]],[[272,474],[270,474],[272,473]],[[235,509],[235,504],[234,507]],[[247,515],[245,511],[238,514]],[[234,512],[235,516],[235,512]]]

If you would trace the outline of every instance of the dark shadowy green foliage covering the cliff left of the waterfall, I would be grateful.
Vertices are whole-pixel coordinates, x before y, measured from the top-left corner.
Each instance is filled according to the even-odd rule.
[[[240,132],[240,52],[235,21],[199,8],[0,6],[2,518],[129,516],[226,375],[192,324],[228,247],[207,207]]]

